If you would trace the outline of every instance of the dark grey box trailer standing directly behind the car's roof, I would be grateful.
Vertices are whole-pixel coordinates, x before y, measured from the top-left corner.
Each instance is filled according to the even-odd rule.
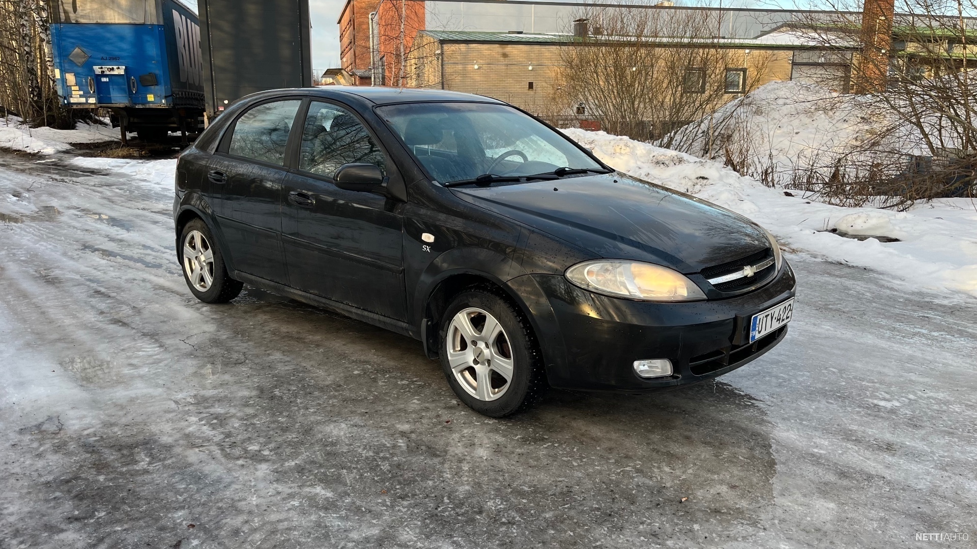
[[[309,0],[199,0],[208,116],[276,88],[312,86]]]

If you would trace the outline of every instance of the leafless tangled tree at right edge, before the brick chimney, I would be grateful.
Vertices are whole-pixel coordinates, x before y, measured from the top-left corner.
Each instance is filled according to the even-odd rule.
[[[890,196],[885,205],[897,208],[973,196],[977,20],[965,14],[977,14],[977,2],[899,0],[886,9],[867,0],[860,17],[858,6],[845,1],[831,0],[832,21],[808,28],[825,46],[856,45],[851,70],[859,108],[883,122],[871,140],[821,172],[850,190]]]

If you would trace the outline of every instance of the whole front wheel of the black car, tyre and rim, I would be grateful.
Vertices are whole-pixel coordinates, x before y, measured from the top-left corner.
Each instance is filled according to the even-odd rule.
[[[494,292],[451,300],[442,320],[441,364],[461,401],[490,417],[529,407],[542,390],[540,354],[529,321]]]

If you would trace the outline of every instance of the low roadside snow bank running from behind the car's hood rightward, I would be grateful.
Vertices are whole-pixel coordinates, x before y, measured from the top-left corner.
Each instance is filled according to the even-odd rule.
[[[908,212],[843,208],[766,188],[712,160],[604,132],[562,131],[610,166],[743,214],[797,251],[890,274],[916,287],[977,295],[977,204],[971,199],[934,200]],[[832,229],[901,241],[860,241]]]

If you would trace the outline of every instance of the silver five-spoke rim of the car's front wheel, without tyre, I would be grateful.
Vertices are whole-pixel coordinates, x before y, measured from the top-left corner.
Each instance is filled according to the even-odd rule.
[[[474,307],[459,311],[447,328],[447,363],[469,395],[494,401],[509,389],[515,360],[502,325]]]

